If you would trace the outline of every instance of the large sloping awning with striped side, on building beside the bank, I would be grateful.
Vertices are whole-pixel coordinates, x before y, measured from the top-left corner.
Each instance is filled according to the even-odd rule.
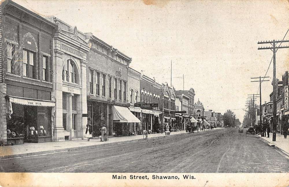
[[[132,114],[128,108],[114,105],[113,121],[119,123],[140,123],[140,120]]]

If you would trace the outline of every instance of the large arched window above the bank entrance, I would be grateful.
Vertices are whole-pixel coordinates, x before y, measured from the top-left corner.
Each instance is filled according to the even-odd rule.
[[[71,83],[78,83],[77,68],[72,60],[67,60],[62,69],[62,80]]]

